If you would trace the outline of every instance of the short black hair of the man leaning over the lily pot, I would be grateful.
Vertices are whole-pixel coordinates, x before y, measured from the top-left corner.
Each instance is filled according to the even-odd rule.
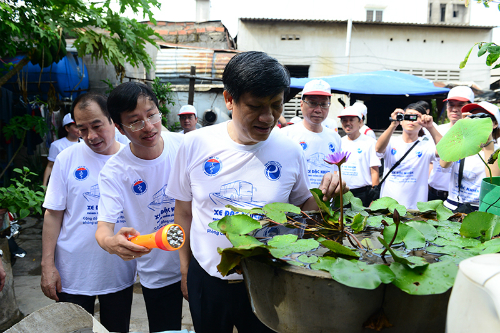
[[[290,92],[290,73],[278,60],[264,52],[250,51],[235,55],[222,74],[224,89],[238,103],[241,95],[276,96]]]

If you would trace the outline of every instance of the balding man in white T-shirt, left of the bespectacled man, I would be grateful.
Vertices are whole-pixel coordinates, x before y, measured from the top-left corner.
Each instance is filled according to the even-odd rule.
[[[78,304],[92,315],[98,297],[103,326],[110,332],[128,332],[135,262],[104,252],[94,236],[99,172],[124,145],[115,140],[105,96],[78,96],[71,118],[85,143],[65,149],[54,161],[43,203],[40,285],[45,296]],[[121,214],[114,222],[125,224]]]

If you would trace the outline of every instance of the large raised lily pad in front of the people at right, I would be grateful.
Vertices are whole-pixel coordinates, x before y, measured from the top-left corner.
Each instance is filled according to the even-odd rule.
[[[488,141],[492,130],[490,118],[460,119],[436,145],[439,157],[447,162],[455,162],[479,153],[481,144]]]

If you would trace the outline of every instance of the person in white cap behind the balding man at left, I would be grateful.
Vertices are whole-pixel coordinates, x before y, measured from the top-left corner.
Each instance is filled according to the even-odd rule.
[[[59,153],[64,149],[77,143],[78,138],[80,137],[80,132],[78,131],[78,128],[76,128],[75,121],[71,118],[71,114],[68,113],[64,116],[61,127],[59,136],[65,136],[50,144],[49,156],[47,157],[47,167],[43,173],[43,186],[47,186],[47,183],[49,182],[49,177],[52,173],[52,168],[54,167],[54,161],[56,160],[57,155],[59,155]]]

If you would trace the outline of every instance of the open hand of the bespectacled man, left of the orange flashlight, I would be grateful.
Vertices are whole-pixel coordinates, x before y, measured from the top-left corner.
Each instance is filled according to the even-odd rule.
[[[134,228],[121,228],[114,233],[114,223],[101,222],[97,225],[96,239],[99,245],[111,254],[116,254],[125,261],[140,258],[151,249],[129,241],[129,237],[139,236]]]

